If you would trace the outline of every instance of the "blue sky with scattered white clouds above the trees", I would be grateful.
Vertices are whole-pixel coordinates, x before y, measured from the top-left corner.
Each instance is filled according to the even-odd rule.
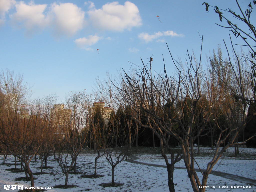
[[[212,8],[206,13],[203,2],[0,0],[0,68],[23,74],[33,98],[55,94],[61,102],[70,91],[92,93],[95,78],[107,72],[114,78],[130,69],[129,61],[140,65],[140,58],[148,62],[153,55],[160,71],[164,55],[172,74],[165,42],[177,60],[185,63],[187,50],[199,60],[198,32],[205,64],[218,44],[224,49],[223,39],[229,43],[230,32],[215,24],[227,25]],[[237,10],[235,1],[206,2]],[[239,2],[245,9],[250,1]]]

